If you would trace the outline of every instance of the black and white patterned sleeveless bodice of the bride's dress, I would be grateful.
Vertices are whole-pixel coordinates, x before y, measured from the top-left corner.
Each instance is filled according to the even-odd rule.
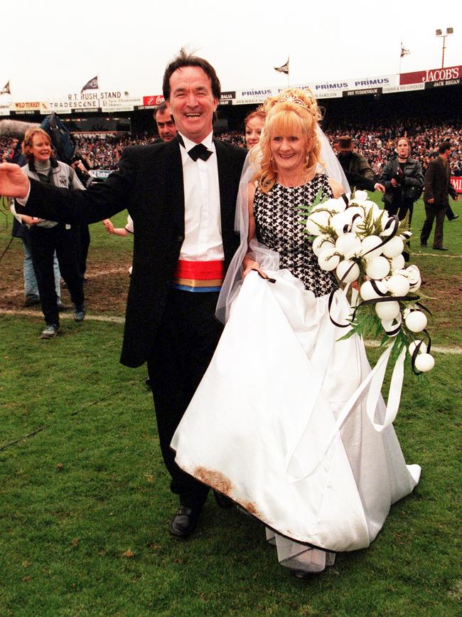
[[[257,189],[254,217],[257,240],[279,253],[279,268],[288,268],[314,295],[326,295],[337,288],[331,272],[321,270],[296,206],[313,204],[319,189],[332,197],[326,174],[318,174],[303,186],[274,184],[268,194]]]

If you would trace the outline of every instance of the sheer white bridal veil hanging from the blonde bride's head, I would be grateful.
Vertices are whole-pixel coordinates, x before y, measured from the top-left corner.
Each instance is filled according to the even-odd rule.
[[[329,178],[336,180],[343,186],[345,193],[349,193],[350,185],[348,184],[345,173],[343,172],[343,169],[335,156],[335,152],[333,152],[331,144],[329,144],[326,135],[319,126],[316,127],[316,131],[318,133],[318,139],[321,142],[321,161],[323,162],[322,164],[318,163],[316,173],[323,172],[327,174]],[[259,163],[261,159],[262,154],[261,151],[259,151],[259,144],[257,144],[247,154],[247,158],[245,159],[244,167],[242,169],[239,192],[237,194],[235,218],[235,231],[240,234],[240,246],[232,258],[230,267],[227,270],[227,275],[222,285],[216,310],[217,318],[223,323],[227,322],[232,301],[239,293],[240,286],[242,285],[242,273],[244,271],[244,268],[242,268],[242,262],[248,250],[249,184],[255,174],[259,171]],[[250,243],[250,249],[255,260],[262,266],[262,270],[265,270],[265,268],[269,270],[278,270],[279,254],[276,253],[276,251],[271,251],[257,240],[252,240]]]

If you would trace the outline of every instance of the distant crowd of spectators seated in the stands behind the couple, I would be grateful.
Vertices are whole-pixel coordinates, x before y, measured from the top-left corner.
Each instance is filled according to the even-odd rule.
[[[331,144],[340,135],[353,137],[355,149],[364,156],[374,172],[380,174],[385,163],[395,155],[397,137],[407,136],[412,147],[412,157],[421,162],[424,170],[429,164],[432,152],[445,139],[453,145],[451,170],[454,176],[462,176],[462,128],[458,122],[438,124],[419,120],[399,120],[389,125],[359,126],[350,122],[323,127]],[[222,132],[217,135],[225,142],[245,147],[243,131]],[[117,135],[107,137],[75,137],[78,154],[85,158],[92,169],[117,169],[122,150],[131,145],[149,144],[157,141],[146,133],[139,136]],[[0,160],[8,160],[11,149],[9,139],[0,139]]]

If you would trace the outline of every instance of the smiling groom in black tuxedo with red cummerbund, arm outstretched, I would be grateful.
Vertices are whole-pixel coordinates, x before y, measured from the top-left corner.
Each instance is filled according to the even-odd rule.
[[[206,60],[181,50],[167,65],[163,95],[177,137],[125,149],[104,183],[66,191],[0,164],[0,194],[20,198],[23,213],[51,221],[94,223],[124,208],[133,218],[121,362],[148,363],[163,460],[180,499],[169,529],[186,538],[208,487],[178,468],[170,442],[220,338],[215,305],[239,243],[235,204],[245,151],[213,139],[220,81]]]

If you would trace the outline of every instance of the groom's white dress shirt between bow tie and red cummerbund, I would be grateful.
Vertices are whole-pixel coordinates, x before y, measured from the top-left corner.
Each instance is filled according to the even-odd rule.
[[[180,145],[183,164],[183,189],[185,194],[185,239],[180,259],[188,261],[223,260],[223,243],[220,219],[220,184],[213,133],[203,139],[203,144],[213,154],[207,161],[193,161],[188,150],[195,142],[181,135],[185,147]]]

